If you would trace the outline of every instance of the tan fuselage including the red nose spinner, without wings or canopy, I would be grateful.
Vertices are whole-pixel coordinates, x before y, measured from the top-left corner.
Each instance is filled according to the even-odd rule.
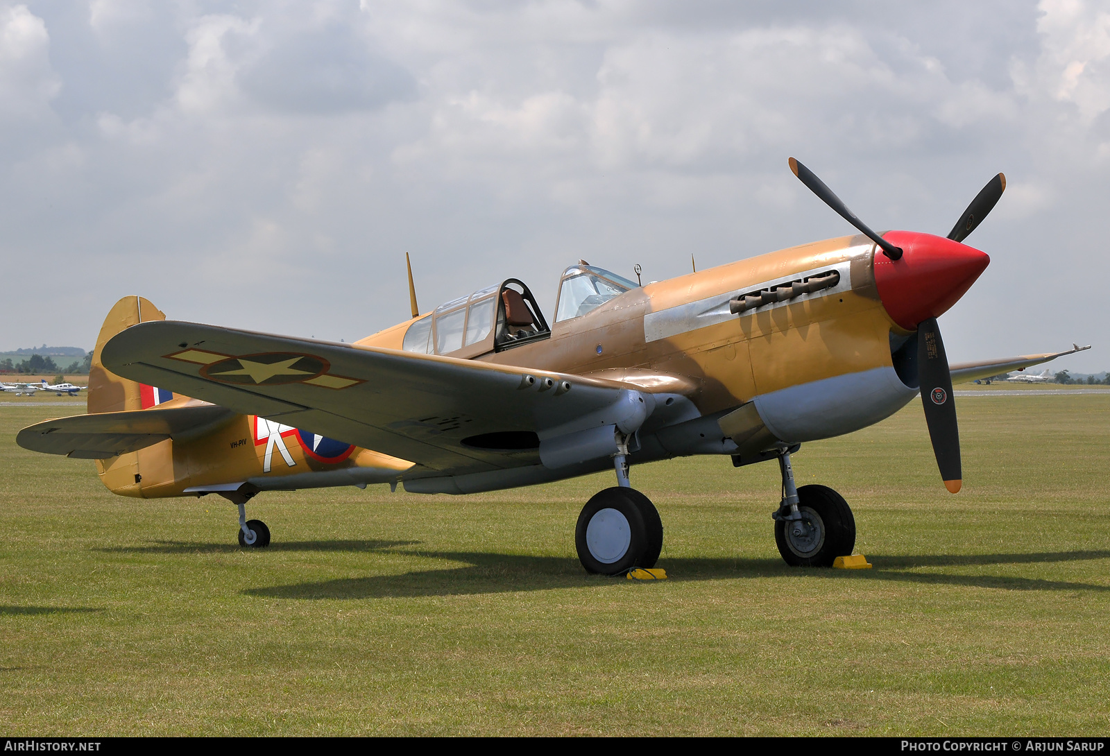
[[[891,234],[905,236],[900,243],[907,254],[898,264],[881,253],[877,259],[866,236],[830,239],[632,289],[585,314],[556,320],[549,335],[512,347],[495,349],[491,335],[447,354],[537,374],[616,381],[665,395],[665,406],[660,403],[639,431],[634,463],[744,454],[768,444],[849,433],[889,416],[917,395],[915,324],[947,310],[986,266],[986,255],[955,242]],[[938,263],[937,255],[945,254],[955,262]],[[938,275],[941,286],[924,285]],[[766,292],[807,280],[834,283],[767,301]],[[749,303],[766,303],[734,312],[730,303],[745,301],[745,295]],[[427,317],[411,319],[355,346],[402,350],[406,333]],[[194,402],[165,399],[161,406]],[[92,404],[90,395],[90,412],[95,411]],[[723,422],[726,416],[730,420]],[[724,431],[729,424],[733,430]],[[239,415],[199,437],[167,440],[98,465],[104,484],[117,493],[172,496],[244,482],[266,490],[398,480],[411,491],[465,493],[610,464],[606,458],[593,467],[555,471],[538,462],[485,477],[427,477],[405,460]]]

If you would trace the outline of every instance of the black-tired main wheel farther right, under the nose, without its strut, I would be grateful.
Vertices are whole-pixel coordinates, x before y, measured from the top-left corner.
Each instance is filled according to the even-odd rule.
[[[805,517],[800,533],[793,531],[791,522],[775,521],[775,543],[788,565],[831,567],[833,560],[851,554],[856,518],[844,496],[825,485],[804,485],[798,488],[798,511]]]

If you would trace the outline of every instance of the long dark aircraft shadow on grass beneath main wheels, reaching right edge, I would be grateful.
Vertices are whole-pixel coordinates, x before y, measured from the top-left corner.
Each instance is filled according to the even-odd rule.
[[[398,575],[344,577],[311,583],[248,588],[250,596],[268,598],[401,598],[450,596],[552,588],[602,587],[614,578],[587,576],[574,557],[527,556],[474,552],[397,551],[425,558],[463,562],[445,569],[413,571]],[[659,566],[676,582],[751,577],[817,577],[824,579],[894,581],[931,585],[957,585],[1007,591],[1110,591],[1110,586],[1005,575],[959,575],[907,572],[915,566],[968,566],[1068,562],[1110,558],[1110,551],[1058,552],[1047,554],[983,554],[969,556],[875,556],[876,568],[868,571],[797,569],[778,560],[751,558],[668,558]],[[624,583],[625,581],[618,581]]]

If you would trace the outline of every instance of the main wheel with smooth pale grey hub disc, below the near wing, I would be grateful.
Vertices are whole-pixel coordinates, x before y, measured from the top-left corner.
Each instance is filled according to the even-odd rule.
[[[647,496],[614,486],[582,507],[574,542],[586,572],[620,575],[633,567],[650,568],[663,550],[663,521]]]

